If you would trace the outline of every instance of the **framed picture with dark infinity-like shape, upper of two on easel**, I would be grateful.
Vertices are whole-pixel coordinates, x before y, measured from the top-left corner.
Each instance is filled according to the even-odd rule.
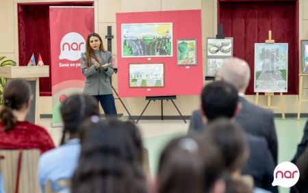
[[[207,57],[232,57],[233,38],[207,38]]]

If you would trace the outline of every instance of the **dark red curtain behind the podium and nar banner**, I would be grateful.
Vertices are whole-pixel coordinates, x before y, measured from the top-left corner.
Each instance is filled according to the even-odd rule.
[[[49,6],[92,6],[93,2],[18,3],[19,65],[27,66],[32,53],[45,65],[51,63]],[[51,69],[49,77],[40,78],[40,96],[51,96]]]

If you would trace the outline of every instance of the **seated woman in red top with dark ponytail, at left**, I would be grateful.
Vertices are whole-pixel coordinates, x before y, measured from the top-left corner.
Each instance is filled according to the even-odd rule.
[[[0,110],[0,149],[39,149],[44,153],[55,147],[43,127],[26,120],[31,101],[29,83],[22,79],[8,81]]]

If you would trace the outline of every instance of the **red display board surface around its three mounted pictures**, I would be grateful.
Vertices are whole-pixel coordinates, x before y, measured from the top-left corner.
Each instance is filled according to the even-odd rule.
[[[122,25],[142,23],[172,23],[172,56],[122,57]],[[201,93],[203,88],[201,10],[118,13],[116,14],[116,37],[119,97]],[[177,65],[177,40],[183,39],[196,40],[196,65]],[[164,87],[129,87],[129,64],[162,63],[164,64]]]

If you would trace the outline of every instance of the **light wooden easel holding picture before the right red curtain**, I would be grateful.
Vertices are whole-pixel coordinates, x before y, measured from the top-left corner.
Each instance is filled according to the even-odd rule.
[[[268,40],[266,40],[266,44],[274,44],[275,40],[272,40],[272,30],[268,31]],[[280,92],[280,107],[279,106],[272,106],[270,104],[270,97],[274,96],[274,92],[264,92],[264,95],[268,97],[268,105],[264,106],[266,109],[281,109],[281,116],[282,119],[285,120],[285,109],[283,107],[283,93]],[[256,93],[255,96],[255,105],[258,104],[259,101],[259,92]],[[308,100],[307,100],[308,101]]]

